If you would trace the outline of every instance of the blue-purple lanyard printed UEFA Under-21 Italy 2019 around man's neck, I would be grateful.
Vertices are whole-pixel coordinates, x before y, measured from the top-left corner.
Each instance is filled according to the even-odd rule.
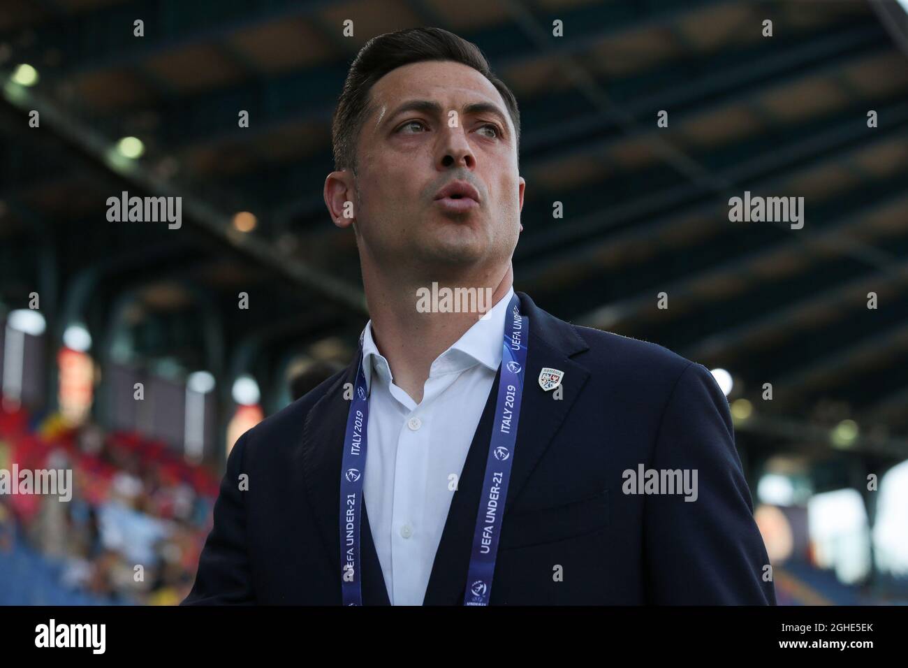
[[[479,500],[476,528],[473,531],[464,605],[489,604],[502,513],[508,497],[508,482],[517,443],[520,397],[523,394],[523,376],[527,366],[528,333],[529,319],[520,314],[520,299],[514,294],[508,304],[505,319],[498,403],[486,459],[483,494]],[[341,464],[341,593],[344,605],[362,604],[360,517],[369,431],[369,393],[366,391],[366,376],[362,371],[362,356],[360,335],[356,384],[347,415]]]

